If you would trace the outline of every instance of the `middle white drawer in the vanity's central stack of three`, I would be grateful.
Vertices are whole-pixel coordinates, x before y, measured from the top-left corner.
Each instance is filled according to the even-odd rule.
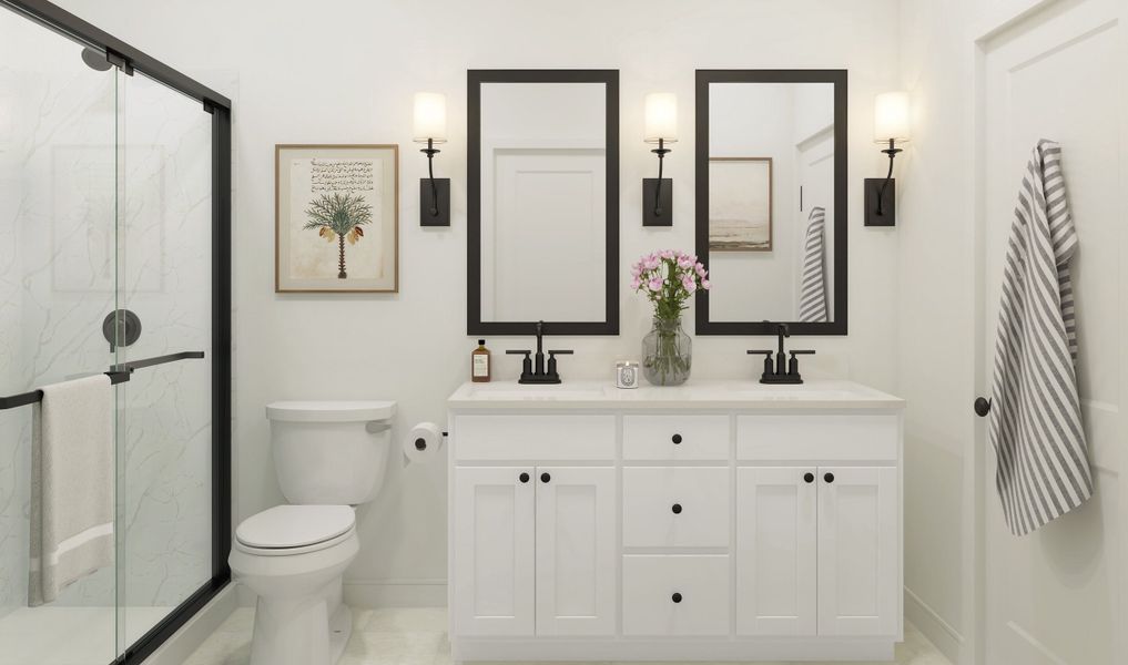
[[[729,469],[623,469],[624,547],[729,547]]]

